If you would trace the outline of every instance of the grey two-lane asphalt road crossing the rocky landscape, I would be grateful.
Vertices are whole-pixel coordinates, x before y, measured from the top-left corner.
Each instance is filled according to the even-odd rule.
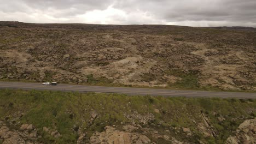
[[[240,92],[207,92],[207,91],[182,91],[172,89],[153,89],[153,88],[129,88],[129,87],[101,87],[83,85],[44,86],[41,83],[24,82],[0,82],[0,88],[11,89],[37,89],[52,91],[77,91],[77,92],[103,92],[103,93],[125,93],[128,95],[162,95],[167,97],[220,97],[220,98],[256,98],[256,93]]]

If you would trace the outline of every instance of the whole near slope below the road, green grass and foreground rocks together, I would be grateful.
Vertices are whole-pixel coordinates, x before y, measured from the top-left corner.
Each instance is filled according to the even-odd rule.
[[[0,90],[0,144],[255,143],[255,99]]]

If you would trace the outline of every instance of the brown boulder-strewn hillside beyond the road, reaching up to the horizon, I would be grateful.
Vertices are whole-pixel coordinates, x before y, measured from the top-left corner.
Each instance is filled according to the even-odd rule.
[[[1,21],[0,79],[256,91],[256,31],[236,29]]]

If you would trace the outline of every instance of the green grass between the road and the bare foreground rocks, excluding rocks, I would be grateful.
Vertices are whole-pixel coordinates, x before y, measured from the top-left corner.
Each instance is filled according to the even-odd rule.
[[[155,113],[154,109],[159,109],[160,113]],[[213,129],[218,131],[219,135],[216,139],[204,137],[192,121],[194,119],[196,123],[202,122],[202,118],[199,117],[201,110],[210,117]],[[91,111],[96,111],[99,117],[90,126],[88,120]],[[143,127],[154,128],[160,134],[165,134],[165,129],[170,127],[188,127],[194,133],[189,139],[182,132],[175,134],[177,130],[174,129],[171,130],[170,136],[181,141],[198,142],[197,140],[201,139],[209,143],[223,143],[240,123],[245,119],[255,117],[256,100],[127,97],[121,94],[0,90],[0,118],[13,119],[15,113],[24,112],[21,123],[34,124],[36,128],[39,128],[39,134],[43,136],[42,141],[46,143],[75,143],[78,135],[72,130],[74,127],[85,128],[89,140],[92,133],[102,131],[106,125],[114,124],[121,128],[120,122],[131,123],[131,120],[124,117],[124,113],[129,114],[134,111],[141,115],[154,113],[153,124]],[[218,115],[214,116],[213,112]],[[217,119],[219,115],[224,116],[226,121],[219,122]],[[138,119],[135,120],[138,121]],[[55,139],[49,136],[42,131],[43,127],[57,129],[62,137]],[[161,141],[161,143],[164,142]]]

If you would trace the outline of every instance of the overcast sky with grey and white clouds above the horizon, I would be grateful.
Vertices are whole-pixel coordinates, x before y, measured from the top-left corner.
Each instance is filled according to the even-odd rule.
[[[256,27],[256,0],[0,0],[0,20]]]

